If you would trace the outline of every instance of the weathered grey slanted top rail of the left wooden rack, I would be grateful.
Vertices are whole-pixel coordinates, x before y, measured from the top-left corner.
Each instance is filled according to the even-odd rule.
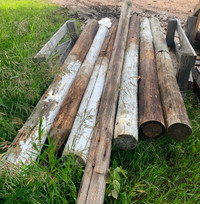
[[[35,62],[45,61],[49,58],[51,52],[55,49],[56,45],[67,33],[67,23],[66,21],[62,27],[53,35],[53,37],[42,47],[42,49],[33,58]]]

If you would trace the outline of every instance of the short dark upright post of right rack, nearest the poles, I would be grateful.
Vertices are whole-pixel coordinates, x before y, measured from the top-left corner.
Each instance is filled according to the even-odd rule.
[[[174,47],[174,35],[176,31],[177,21],[175,19],[168,20],[166,41],[169,47]]]

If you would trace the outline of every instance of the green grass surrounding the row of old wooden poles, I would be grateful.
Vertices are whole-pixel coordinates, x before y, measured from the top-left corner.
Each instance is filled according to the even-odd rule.
[[[22,127],[58,71],[32,57],[69,18],[42,0],[0,1],[0,151]],[[105,203],[200,203],[200,105],[188,92],[193,134],[183,142],[167,136],[140,139],[133,151],[112,149]],[[0,203],[75,203],[83,169],[43,155],[21,171],[0,170]]]

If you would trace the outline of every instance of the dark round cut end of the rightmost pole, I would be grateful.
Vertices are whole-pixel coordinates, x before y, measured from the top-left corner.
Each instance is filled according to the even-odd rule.
[[[181,141],[185,140],[192,134],[192,129],[189,125],[183,123],[175,123],[168,128],[169,137]]]

